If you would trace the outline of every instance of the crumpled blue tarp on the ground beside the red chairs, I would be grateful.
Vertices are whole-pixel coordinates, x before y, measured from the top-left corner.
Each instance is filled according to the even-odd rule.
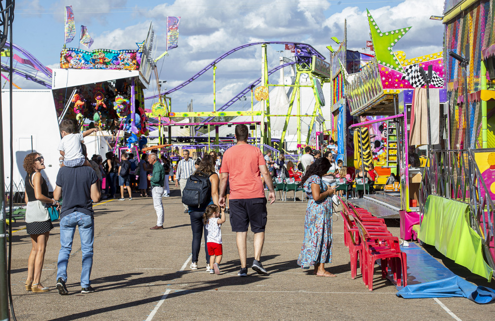
[[[400,247],[407,255],[407,286],[397,286],[405,299],[465,297],[479,304],[495,301],[495,290],[477,286],[448,270],[416,243]]]

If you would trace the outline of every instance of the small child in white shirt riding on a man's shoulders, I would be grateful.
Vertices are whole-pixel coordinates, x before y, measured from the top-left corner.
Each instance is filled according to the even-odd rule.
[[[98,131],[98,129],[92,128],[81,134],[76,132],[76,127],[73,120],[63,120],[60,123],[59,129],[62,140],[60,141],[60,145],[58,145],[58,150],[64,158],[63,164],[67,167],[91,166],[90,162],[83,156],[81,141],[83,137]]]

